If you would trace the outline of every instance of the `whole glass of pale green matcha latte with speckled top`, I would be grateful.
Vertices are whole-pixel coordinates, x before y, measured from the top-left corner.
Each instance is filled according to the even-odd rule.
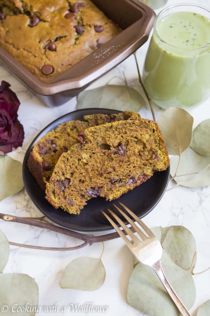
[[[154,103],[188,107],[210,95],[210,11],[196,4],[163,9],[145,59],[143,82]]]

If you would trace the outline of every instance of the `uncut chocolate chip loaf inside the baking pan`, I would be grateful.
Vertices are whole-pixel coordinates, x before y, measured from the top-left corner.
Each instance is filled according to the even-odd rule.
[[[119,33],[90,0],[0,0],[0,46],[43,82]]]

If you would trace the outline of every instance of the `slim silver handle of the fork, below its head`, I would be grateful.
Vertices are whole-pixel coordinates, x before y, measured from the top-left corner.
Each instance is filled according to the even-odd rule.
[[[172,289],[170,283],[168,282],[168,280],[163,272],[161,261],[159,260],[155,264],[153,264],[152,268],[154,269],[157,276],[161,280],[164,288],[167,290],[168,294],[172,298],[172,300],[173,300],[174,304],[176,305],[176,307],[178,308],[179,312],[183,316],[191,316],[190,313],[187,311],[186,307],[184,306],[184,304],[180,301],[176,292]]]

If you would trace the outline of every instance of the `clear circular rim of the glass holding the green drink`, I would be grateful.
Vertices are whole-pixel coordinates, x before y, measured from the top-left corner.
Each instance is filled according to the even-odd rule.
[[[163,39],[161,38],[161,36],[158,34],[156,24],[157,24],[157,20],[158,20],[158,18],[160,17],[160,15],[161,15],[162,13],[164,13],[165,11],[169,10],[169,9],[173,9],[173,8],[176,8],[176,7],[183,7],[183,6],[189,6],[189,7],[190,7],[190,6],[193,6],[193,7],[201,8],[201,9],[206,10],[206,11],[209,12],[209,14],[210,14],[210,9],[208,9],[207,7],[205,7],[205,6],[203,6],[203,5],[197,4],[197,3],[177,3],[177,4],[172,4],[172,5],[170,5],[170,6],[166,7],[166,8],[164,8],[164,9],[162,9],[162,10],[158,13],[158,15],[156,16],[155,22],[154,22],[154,33],[155,33],[155,35],[157,36],[157,38],[158,38],[162,43],[167,44],[168,46],[171,46],[171,47],[176,48],[176,49],[181,49],[181,50],[183,50],[183,51],[196,52],[196,51],[201,51],[201,50],[203,50],[203,49],[205,49],[205,48],[210,47],[210,43],[209,43],[209,44],[207,44],[207,45],[205,45],[205,46],[202,46],[202,47],[199,47],[199,48],[181,48],[181,47],[178,47],[178,46],[174,46],[174,45],[172,45],[172,44],[169,44],[168,42],[166,42],[165,40],[163,40]]]

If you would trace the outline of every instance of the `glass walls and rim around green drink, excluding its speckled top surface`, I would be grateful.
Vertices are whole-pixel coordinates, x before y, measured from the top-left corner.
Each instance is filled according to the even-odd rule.
[[[199,104],[210,94],[210,43],[183,49],[164,41],[158,33],[162,19],[175,12],[196,12],[210,22],[210,10],[189,3],[172,5],[156,16],[143,82],[153,102],[164,109]]]

